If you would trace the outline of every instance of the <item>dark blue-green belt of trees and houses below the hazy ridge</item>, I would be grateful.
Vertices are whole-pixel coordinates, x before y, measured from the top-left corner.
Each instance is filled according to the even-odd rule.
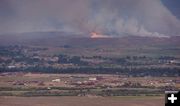
[[[64,47],[63,47],[64,48]],[[0,72],[120,74],[127,76],[180,76],[180,58],[173,56],[76,56],[47,54],[51,48],[1,46]],[[73,48],[71,48],[73,49]]]

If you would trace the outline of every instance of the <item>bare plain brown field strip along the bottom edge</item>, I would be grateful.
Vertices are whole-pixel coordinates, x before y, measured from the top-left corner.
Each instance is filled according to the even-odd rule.
[[[164,106],[164,97],[0,97],[1,106]]]

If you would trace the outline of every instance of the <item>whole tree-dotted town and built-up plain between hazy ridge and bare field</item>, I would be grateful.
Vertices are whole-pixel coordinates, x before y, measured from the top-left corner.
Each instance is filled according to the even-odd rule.
[[[63,53],[67,46],[57,53],[51,49],[1,46],[0,95],[158,96],[180,88],[178,57],[73,55]]]

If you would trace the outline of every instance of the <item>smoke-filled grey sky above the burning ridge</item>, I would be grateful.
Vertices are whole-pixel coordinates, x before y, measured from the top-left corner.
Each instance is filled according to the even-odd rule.
[[[0,0],[0,35],[180,35],[180,0]]]

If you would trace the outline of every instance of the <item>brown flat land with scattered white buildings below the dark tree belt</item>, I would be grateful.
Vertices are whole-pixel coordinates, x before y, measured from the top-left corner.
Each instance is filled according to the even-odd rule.
[[[0,96],[160,96],[179,89],[179,77],[110,74],[0,74]]]

